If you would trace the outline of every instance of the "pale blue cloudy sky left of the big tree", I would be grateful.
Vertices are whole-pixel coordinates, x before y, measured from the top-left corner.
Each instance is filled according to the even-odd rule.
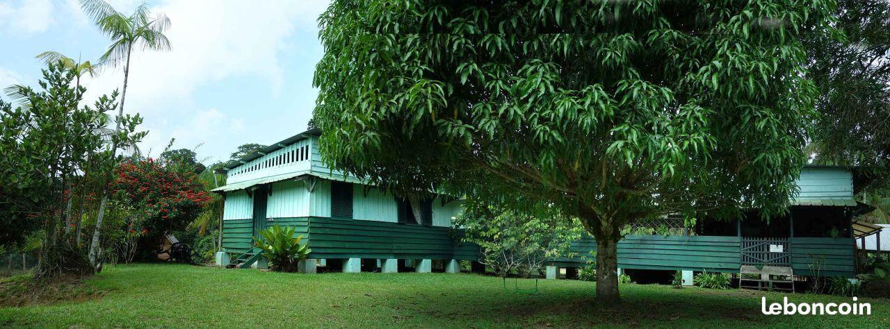
[[[142,1],[107,0],[130,14]],[[268,145],[303,132],[318,93],[312,87],[323,48],[317,19],[327,0],[153,0],[170,18],[168,52],[133,57],[125,113],[139,113],[143,154],[171,139],[211,164],[245,143]],[[44,51],[96,60],[110,44],[77,0],[0,0],[0,88],[36,86]],[[85,100],[123,85],[123,68],[86,78]],[[0,96],[5,99],[5,95]]]

